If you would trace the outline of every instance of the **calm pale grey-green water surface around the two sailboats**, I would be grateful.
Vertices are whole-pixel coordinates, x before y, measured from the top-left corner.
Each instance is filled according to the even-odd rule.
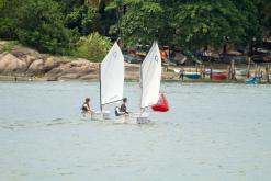
[[[161,90],[170,112],[136,125],[81,120],[86,97],[99,108],[98,82],[0,82],[0,180],[271,180],[271,86]],[[124,91],[138,112],[138,84]]]

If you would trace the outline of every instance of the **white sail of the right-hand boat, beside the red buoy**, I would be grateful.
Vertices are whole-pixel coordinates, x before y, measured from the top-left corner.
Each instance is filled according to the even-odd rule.
[[[154,42],[142,64],[142,104],[146,108],[159,100],[161,80],[161,55],[157,42]]]

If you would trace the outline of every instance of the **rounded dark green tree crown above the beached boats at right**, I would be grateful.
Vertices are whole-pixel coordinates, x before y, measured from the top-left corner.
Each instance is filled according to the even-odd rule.
[[[230,1],[185,3],[179,5],[173,27],[177,41],[189,48],[219,47],[226,41],[241,43],[244,16]]]

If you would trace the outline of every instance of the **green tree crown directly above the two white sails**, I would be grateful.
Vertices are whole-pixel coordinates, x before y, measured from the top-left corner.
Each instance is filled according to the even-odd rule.
[[[163,23],[163,10],[159,3],[143,2],[140,0],[124,0],[123,4],[120,1],[112,3],[111,9],[128,5],[128,11],[121,18],[121,23],[112,26],[111,33],[121,31],[124,43],[133,45],[138,41],[150,43],[157,38]],[[118,12],[121,13],[121,12]]]

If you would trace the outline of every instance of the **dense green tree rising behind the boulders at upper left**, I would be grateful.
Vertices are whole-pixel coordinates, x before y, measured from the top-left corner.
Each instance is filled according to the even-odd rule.
[[[75,42],[75,33],[65,27],[58,3],[52,0],[25,2],[20,9],[19,41],[42,53],[67,54]]]

